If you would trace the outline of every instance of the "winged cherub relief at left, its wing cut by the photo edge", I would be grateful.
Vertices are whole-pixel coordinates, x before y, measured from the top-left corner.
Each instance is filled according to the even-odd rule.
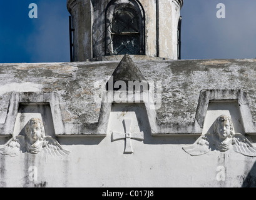
[[[0,146],[0,153],[9,156],[17,156],[19,153],[38,154],[45,151],[53,156],[66,156],[69,151],[51,136],[45,136],[41,119],[32,118],[25,126],[25,134],[15,136]]]

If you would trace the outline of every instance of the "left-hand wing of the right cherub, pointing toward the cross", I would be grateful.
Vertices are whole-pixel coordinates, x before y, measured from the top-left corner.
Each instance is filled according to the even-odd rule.
[[[192,156],[199,156],[213,151],[214,148],[214,136],[211,133],[200,136],[194,144],[185,146],[182,149]]]

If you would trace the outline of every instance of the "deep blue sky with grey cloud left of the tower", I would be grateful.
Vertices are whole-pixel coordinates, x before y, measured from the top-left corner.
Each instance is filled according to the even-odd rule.
[[[28,16],[31,3],[37,19]],[[69,61],[66,0],[1,0],[0,8],[0,63]]]

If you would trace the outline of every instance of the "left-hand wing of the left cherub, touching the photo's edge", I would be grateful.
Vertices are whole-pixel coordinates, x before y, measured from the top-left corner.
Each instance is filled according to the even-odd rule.
[[[17,156],[19,153],[26,152],[26,142],[24,136],[16,136],[0,146],[0,153],[3,155]]]

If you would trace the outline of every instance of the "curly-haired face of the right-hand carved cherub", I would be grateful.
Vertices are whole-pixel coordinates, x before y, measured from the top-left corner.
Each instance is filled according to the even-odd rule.
[[[234,130],[231,118],[226,115],[219,116],[214,124],[214,133],[217,134],[220,139],[233,136]]]

